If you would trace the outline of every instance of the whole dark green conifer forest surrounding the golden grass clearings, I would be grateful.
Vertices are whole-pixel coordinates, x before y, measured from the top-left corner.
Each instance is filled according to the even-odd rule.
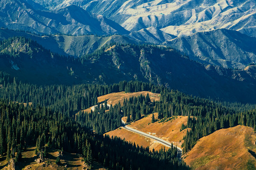
[[[238,124],[254,128],[256,126],[255,105],[213,102],[178,91],[170,91],[164,86],[126,81],[114,85],[37,86],[17,82],[15,78],[12,79],[3,72],[0,73],[0,77],[0,83],[3,84],[0,88],[0,96],[7,99],[0,102],[2,108],[0,125],[2,147],[0,149],[2,154],[8,151],[7,159],[14,157],[13,152],[18,152],[17,161],[20,160],[22,148],[37,142],[38,154],[45,152],[44,144],[47,143],[46,147],[81,153],[89,164],[95,160],[114,169],[123,167],[124,169],[138,167],[140,169],[156,167],[187,169],[183,161],[177,160],[174,148],[168,151],[152,152],[118,138],[110,139],[108,136],[91,134],[87,129],[93,128],[97,134],[103,134],[121,126],[122,116],[128,116],[128,119],[134,121],[141,119],[141,115],[152,112],[158,112],[157,120],[165,120],[174,115],[189,116],[187,127],[190,127],[191,131],[184,136],[183,151],[185,153],[202,136],[209,135],[220,128],[234,127]],[[129,93],[143,90],[161,93],[160,101],[150,101],[148,95],[138,96],[125,100],[122,107],[117,104],[107,108],[105,104],[105,106],[96,107],[90,113],[76,114],[79,110],[97,103],[97,96],[120,91]],[[23,102],[32,102],[32,105],[27,104],[25,107]],[[101,114],[99,115],[98,112]],[[183,126],[183,128],[186,127]],[[119,148],[120,146],[122,149]],[[119,151],[116,151],[117,148]],[[129,153],[126,150],[128,148]],[[116,156],[109,157],[113,152]],[[142,156],[145,164],[134,161],[133,158],[136,156]],[[126,164],[129,159],[132,161]],[[153,161],[152,159],[154,164],[148,166],[146,162]],[[114,163],[117,161],[119,164]]]

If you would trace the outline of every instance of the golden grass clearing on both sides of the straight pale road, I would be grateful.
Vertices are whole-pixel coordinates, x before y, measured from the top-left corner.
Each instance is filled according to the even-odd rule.
[[[156,119],[158,114],[154,113],[154,116]],[[182,138],[186,134],[186,130],[180,132],[180,128],[183,123],[186,125],[187,117],[178,116],[164,123],[151,123],[151,119],[152,114],[140,120],[137,120],[136,122],[133,122],[128,126],[148,133],[150,135],[160,137],[169,142],[174,142],[174,144],[177,146],[181,146],[181,144],[183,143]],[[123,120],[126,121],[126,118],[123,118]],[[150,149],[154,148],[155,150],[159,150],[162,147],[165,147],[164,145],[155,142],[153,139],[138,135],[123,128],[113,130],[111,132],[108,132],[107,134],[110,136],[118,136],[122,139],[125,138],[126,141],[135,142],[135,144],[142,145],[143,147],[149,146]]]

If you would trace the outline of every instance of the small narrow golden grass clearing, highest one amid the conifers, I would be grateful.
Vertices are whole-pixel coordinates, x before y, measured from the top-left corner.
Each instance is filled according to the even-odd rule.
[[[149,94],[151,102],[153,102],[153,100],[155,101],[160,100],[160,94],[144,91],[144,92],[135,92],[135,93],[125,93],[125,92],[110,93],[110,94],[98,97],[98,102],[104,102],[106,99],[108,104],[115,105],[120,102],[121,105],[123,105],[124,99],[128,99],[132,96],[137,97],[141,94],[146,96],[147,93]]]

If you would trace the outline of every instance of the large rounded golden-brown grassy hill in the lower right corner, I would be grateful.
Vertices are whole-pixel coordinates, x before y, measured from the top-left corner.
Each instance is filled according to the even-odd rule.
[[[202,137],[184,161],[195,170],[255,170],[255,141],[251,127],[221,129]]]

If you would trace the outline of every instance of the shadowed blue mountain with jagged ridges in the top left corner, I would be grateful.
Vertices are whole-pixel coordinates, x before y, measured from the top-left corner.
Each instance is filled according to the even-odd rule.
[[[78,6],[68,6],[53,11],[35,10],[23,0],[2,0],[1,26],[45,34],[129,34],[117,23],[91,14]]]

